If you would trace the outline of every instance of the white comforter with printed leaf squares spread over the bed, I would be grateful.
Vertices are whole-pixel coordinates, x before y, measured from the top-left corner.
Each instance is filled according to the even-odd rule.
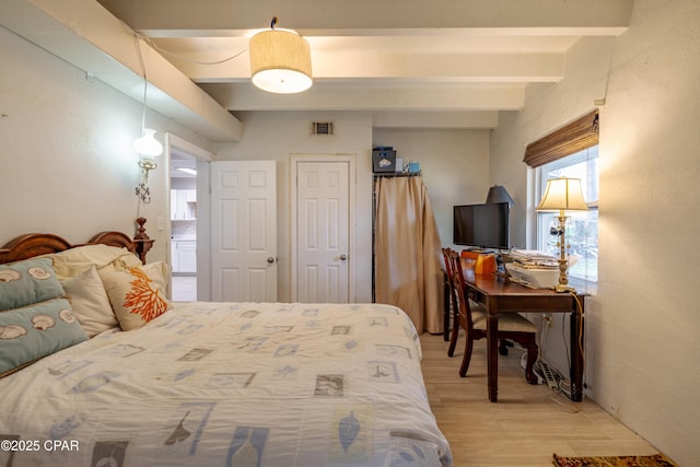
[[[0,466],[451,466],[388,305],[178,304],[0,380]]]

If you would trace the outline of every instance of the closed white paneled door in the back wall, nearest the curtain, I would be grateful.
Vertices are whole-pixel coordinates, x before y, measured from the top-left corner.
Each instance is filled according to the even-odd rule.
[[[296,300],[350,299],[350,161],[295,161]]]

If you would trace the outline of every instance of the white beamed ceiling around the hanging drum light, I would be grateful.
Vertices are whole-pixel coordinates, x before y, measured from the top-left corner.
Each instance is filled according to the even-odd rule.
[[[529,83],[556,83],[581,37],[617,35],[631,0],[100,0],[234,115],[371,110],[375,126],[493,128]],[[302,34],[314,85],[298,95],[250,84],[247,39]],[[233,57],[233,58],[232,58]],[[201,65],[220,62],[218,65]],[[439,114],[439,115],[438,115]]]

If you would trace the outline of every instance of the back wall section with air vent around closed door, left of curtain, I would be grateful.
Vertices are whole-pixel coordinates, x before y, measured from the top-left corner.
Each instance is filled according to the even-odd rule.
[[[245,126],[241,142],[220,144],[219,161],[277,161],[278,300],[289,301],[290,283],[290,156],[352,154],[357,159],[355,300],[372,300],[372,118],[364,113],[248,112],[236,115]],[[312,121],[332,121],[332,137],[312,137]]]

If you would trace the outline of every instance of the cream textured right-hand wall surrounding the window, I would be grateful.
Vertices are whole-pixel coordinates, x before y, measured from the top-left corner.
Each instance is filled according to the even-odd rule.
[[[514,180],[511,195],[527,199],[523,144],[606,98],[586,395],[684,466],[700,458],[699,24],[696,0],[635,1],[625,34],[576,46],[562,82],[529,90],[523,112],[502,116],[490,164],[492,183]]]

